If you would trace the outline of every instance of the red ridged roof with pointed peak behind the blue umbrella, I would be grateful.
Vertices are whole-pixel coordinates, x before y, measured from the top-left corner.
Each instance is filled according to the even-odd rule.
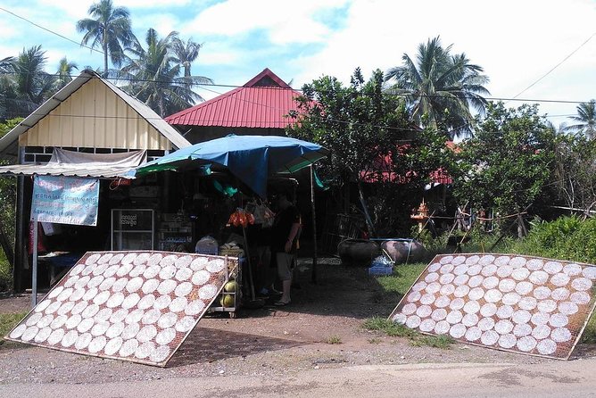
[[[294,98],[301,95],[266,68],[243,87],[212,98],[165,120],[171,125],[229,128],[285,129],[297,111]]]

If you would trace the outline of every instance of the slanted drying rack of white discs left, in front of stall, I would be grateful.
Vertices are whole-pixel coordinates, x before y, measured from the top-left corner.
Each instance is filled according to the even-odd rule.
[[[89,252],[5,338],[165,366],[236,267],[204,254]]]

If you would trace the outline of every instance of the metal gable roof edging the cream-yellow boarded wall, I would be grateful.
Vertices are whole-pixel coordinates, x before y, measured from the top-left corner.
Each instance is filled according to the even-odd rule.
[[[27,132],[29,129],[36,126],[37,122],[43,120],[50,112],[54,111],[60,104],[66,101],[70,95],[83,87],[89,80],[98,79],[106,87],[108,87],[115,95],[118,95],[126,104],[128,104],[135,112],[138,113],[141,119],[145,120],[149,125],[156,129],[163,137],[166,137],[172,145],[177,148],[184,148],[190,143],[185,137],[182,137],[178,130],[171,127],[165,120],[153,112],[147,105],[141,103],[137,98],[128,95],[119,87],[114,86],[109,81],[102,79],[93,70],[83,70],[80,75],[70,81],[69,84],[62,87],[60,91],[52,95],[44,104],[41,104],[36,111],[29,114],[27,118],[21,121],[14,129],[9,131],[4,137],[0,138],[0,153],[16,155],[18,147],[18,139],[21,134]],[[145,149],[145,148],[130,148],[130,149]]]

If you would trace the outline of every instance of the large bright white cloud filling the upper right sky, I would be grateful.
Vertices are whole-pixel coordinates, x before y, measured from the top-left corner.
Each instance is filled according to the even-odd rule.
[[[426,12],[423,12],[426,11]],[[419,43],[440,35],[443,46],[465,52],[471,62],[484,67],[491,78],[493,96],[510,97],[529,86],[590,37],[596,21],[592,1],[451,2],[354,0],[346,28],[327,38],[317,54],[297,62],[301,83],[330,74],[348,81],[360,66],[364,73],[401,64],[401,54],[415,56]],[[559,87],[563,76],[596,66],[596,37],[524,96],[541,98],[581,95],[586,88],[596,93],[596,82],[576,81],[577,89]],[[550,86],[547,86],[549,85]],[[549,87],[548,90],[545,87]],[[559,89],[555,91],[554,87]],[[567,94],[568,93],[568,94]],[[575,99],[578,98],[575,96]]]

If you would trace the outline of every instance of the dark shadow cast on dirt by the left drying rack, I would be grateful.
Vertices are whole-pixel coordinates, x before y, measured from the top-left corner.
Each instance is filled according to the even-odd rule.
[[[259,352],[282,350],[298,345],[303,343],[219,329],[195,328],[172,356],[168,362],[168,368],[246,357]]]

